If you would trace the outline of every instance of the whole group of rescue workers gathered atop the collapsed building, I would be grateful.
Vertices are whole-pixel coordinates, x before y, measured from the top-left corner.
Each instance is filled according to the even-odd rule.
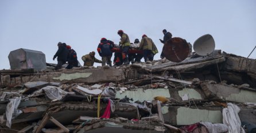
[[[160,41],[165,44],[169,39],[172,38],[172,34],[167,32],[165,29],[162,30],[164,33],[164,40]],[[109,65],[112,67],[111,57],[114,53],[113,64],[115,66],[127,65],[130,62],[141,62],[141,58],[144,58],[144,61],[150,63],[154,59],[154,55],[158,53],[157,47],[152,41],[151,38],[143,34],[141,42],[138,38],[134,40],[134,43],[130,42],[129,36],[123,32],[123,30],[118,30],[118,35],[121,37],[119,45],[114,44],[113,41],[107,40],[106,38],[101,38],[98,45],[97,51],[99,56],[102,57],[102,60],[95,58],[95,52],[92,51],[89,54],[82,56],[84,61],[84,66],[93,66],[94,62],[102,63],[102,66]],[[72,69],[73,67],[78,67],[77,54],[75,50],[71,49],[71,46],[59,42],[57,44],[59,49],[57,50],[53,60],[57,57],[57,65],[55,70],[60,69],[63,64],[68,62],[66,69]],[[164,53],[161,53],[161,58],[165,58]]]

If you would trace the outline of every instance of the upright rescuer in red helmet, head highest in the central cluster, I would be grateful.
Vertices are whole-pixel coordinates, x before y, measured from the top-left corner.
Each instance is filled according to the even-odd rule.
[[[123,33],[123,30],[118,30],[117,34],[121,37],[119,45],[122,49],[123,64],[128,65],[130,64],[130,61],[128,60],[127,54],[131,46],[129,36],[126,33]]]

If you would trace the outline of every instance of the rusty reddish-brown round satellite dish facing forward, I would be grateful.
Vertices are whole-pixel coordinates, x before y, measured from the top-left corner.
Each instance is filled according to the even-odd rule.
[[[188,57],[189,46],[183,38],[173,37],[165,42],[162,52],[169,61],[180,62]]]

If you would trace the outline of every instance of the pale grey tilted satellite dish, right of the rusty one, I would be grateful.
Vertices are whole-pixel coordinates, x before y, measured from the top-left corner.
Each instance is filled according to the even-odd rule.
[[[193,49],[196,54],[200,56],[207,56],[211,54],[215,49],[214,38],[211,34],[205,34],[204,36],[199,37],[193,44]]]

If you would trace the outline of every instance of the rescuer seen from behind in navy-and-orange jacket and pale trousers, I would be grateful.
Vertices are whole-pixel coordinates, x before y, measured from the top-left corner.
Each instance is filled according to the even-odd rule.
[[[99,56],[102,57],[102,66],[106,65],[107,62],[107,64],[112,67],[111,57],[113,54],[113,46],[108,42],[106,38],[101,38],[97,51]]]

